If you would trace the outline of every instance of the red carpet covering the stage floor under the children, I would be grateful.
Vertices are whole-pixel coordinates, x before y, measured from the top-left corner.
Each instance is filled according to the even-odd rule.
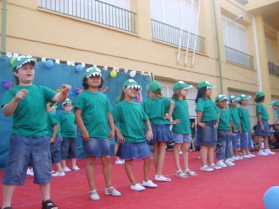
[[[255,154],[255,153],[253,153]],[[121,193],[120,197],[104,195],[104,179],[100,159],[95,167],[96,186],[99,201],[89,199],[88,184],[85,176],[85,159],[78,159],[79,171],[67,172],[65,177],[55,177],[51,182],[51,198],[60,208],[264,208],[265,191],[279,185],[279,152],[275,155],[258,156],[235,162],[235,166],[213,172],[199,171],[199,152],[190,153],[190,169],[198,176],[179,179],[175,176],[172,153],[166,154],[163,174],[171,182],[157,182],[158,188],[145,191],[130,190],[130,183],[123,165],[113,164],[113,185]],[[114,162],[112,157],[112,162]],[[181,161],[182,162],[182,161]],[[67,162],[67,164],[71,164]],[[182,163],[181,163],[182,164]],[[53,166],[55,168],[55,166]],[[143,180],[143,160],[133,162],[135,178]],[[154,178],[154,166],[151,176]],[[4,170],[0,170],[2,179]],[[13,196],[13,208],[40,208],[41,192],[39,186],[26,177],[24,186],[17,186]],[[155,182],[156,183],[156,182]],[[0,186],[0,202],[3,189]]]

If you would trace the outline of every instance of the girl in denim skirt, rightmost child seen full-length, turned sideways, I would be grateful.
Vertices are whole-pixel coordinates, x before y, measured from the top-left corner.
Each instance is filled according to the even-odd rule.
[[[255,102],[257,103],[256,105],[256,115],[258,117],[258,122],[257,122],[257,129],[256,129],[256,135],[259,136],[259,152],[258,155],[273,155],[275,154],[274,152],[271,152],[269,147],[268,147],[268,136],[270,136],[270,131],[269,131],[269,124],[268,124],[268,119],[269,115],[266,111],[266,108],[263,105],[264,102],[264,93],[262,91],[258,91],[256,93],[256,98]],[[264,151],[262,150],[262,138],[264,141]]]

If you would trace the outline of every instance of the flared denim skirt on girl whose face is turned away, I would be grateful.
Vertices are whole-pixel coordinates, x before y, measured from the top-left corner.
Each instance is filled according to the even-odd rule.
[[[164,125],[155,125],[151,124],[152,132],[153,132],[153,140],[149,141],[147,140],[147,144],[152,145],[152,143],[158,143],[158,142],[166,142],[167,145],[175,142],[175,139],[173,138],[173,135],[170,131],[170,125],[164,124]],[[145,130],[146,134],[147,130]]]

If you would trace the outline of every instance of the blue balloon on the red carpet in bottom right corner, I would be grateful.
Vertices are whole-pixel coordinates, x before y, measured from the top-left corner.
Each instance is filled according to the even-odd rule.
[[[270,187],[263,196],[263,202],[266,209],[274,209],[279,206],[279,186]]]

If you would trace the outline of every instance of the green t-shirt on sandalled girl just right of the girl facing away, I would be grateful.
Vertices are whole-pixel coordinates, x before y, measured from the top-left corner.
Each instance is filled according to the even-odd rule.
[[[171,100],[176,103],[175,109],[172,113],[172,120],[180,120],[179,124],[172,126],[171,131],[173,133],[191,133],[187,100],[177,100],[175,98],[172,98]]]

